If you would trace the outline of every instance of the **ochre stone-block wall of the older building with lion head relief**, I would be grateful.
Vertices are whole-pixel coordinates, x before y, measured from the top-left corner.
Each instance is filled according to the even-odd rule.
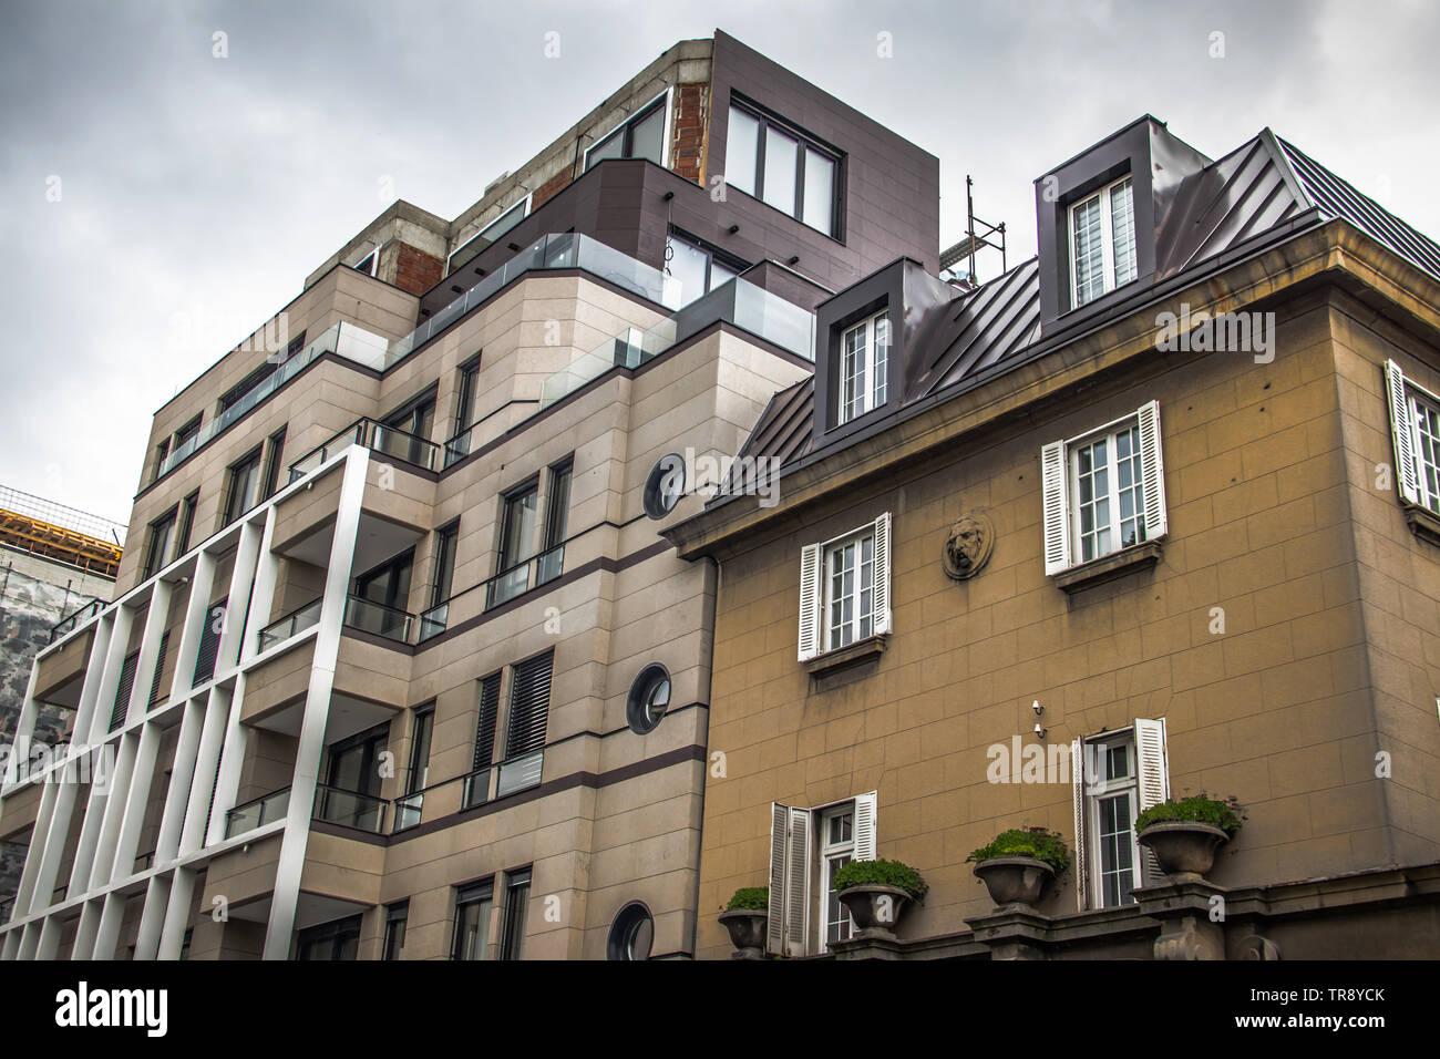
[[[992,908],[965,863],[972,849],[1018,826],[1073,841],[1068,785],[985,778],[988,746],[1034,742],[1037,699],[1045,742],[1064,746],[1166,719],[1171,790],[1234,794],[1248,810],[1217,860],[1220,885],[1433,859],[1440,739],[1426,710],[1440,687],[1440,549],[1405,532],[1392,487],[1362,496],[1390,460],[1385,405],[1375,354],[1352,367],[1345,352],[1364,329],[1342,316],[1323,298],[1292,303],[1273,365],[1210,354],[1156,369],[942,467],[834,499],[802,530],[727,559],[710,728],[727,778],[706,787],[698,908],[765,885],[772,800],[816,807],[876,790],[878,856],[932,886],[906,937],[965,929]],[[1434,385],[1416,359],[1404,366]],[[1066,596],[1041,560],[1040,448],[1149,399],[1161,405],[1164,558]],[[995,520],[995,552],[956,584],[940,553],[973,507]],[[814,684],[795,657],[801,546],[887,510],[888,650]],[[1224,634],[1211,631],[1212,607]],[[1382,748],[1405,784],[1375,777]],[[1041,911],[1074,908],[1067,872]],[[701,915],[698,955],[729,952]]]

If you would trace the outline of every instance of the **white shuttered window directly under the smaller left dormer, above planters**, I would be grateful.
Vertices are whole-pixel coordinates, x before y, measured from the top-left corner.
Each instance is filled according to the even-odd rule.
[[[888,631],[888,511],[801,549],[801,661]]]

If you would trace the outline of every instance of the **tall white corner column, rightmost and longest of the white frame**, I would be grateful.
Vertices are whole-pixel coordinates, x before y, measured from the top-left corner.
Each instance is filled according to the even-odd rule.
[[[325,746],[325,722],[330,719],[330,693],[336,683],[336,656],[340,651],[340,628],[344,622],[350,565],[354,560],[356,536],[360,529],[369,457],[369,450],[359,445],[347,450],[344,480],[340,484],[340,506],[336,513],[336,536],[330,545],[330,565],[325,572],[325,591],[321,596],[324,602],[320,609],[320,627],[315,631],[310,687],[305,693],[305,712],[300,722],[295,774],[291,779],[289,810],[285,817],[285,837],[281,840],[279,860],[275,864],[275,889],[271,895],[269,922],[265,926],[264,960],[289,957],[289,941],[295,928],[295,905],[300,901],[300,875],[305,866],[310,814],[315,803],[315,785],[320,782],[320,755]]]

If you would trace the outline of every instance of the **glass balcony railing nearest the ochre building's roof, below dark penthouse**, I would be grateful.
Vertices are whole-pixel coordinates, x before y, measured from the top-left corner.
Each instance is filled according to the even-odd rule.
[[[716,323],[740,327],[805,360],[815,359],[815,317],[752,282],[736,278],[697,298],[649,330],[631,327],[603,346],[577,357],[549,379],[540,408],[549,408],[612,367],[638,367]],[[454,445],[454,441],[451,442]],[[446,447],[446,460],[449,460]],[[468,451],[468,445],[465,447]],[[456,457],[458,458],[458,457]],[[449,460],[454,463],[454,460]]]

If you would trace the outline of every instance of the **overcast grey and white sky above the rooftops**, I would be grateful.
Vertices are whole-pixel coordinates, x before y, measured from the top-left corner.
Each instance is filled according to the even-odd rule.
[[[717,26],[939,156],[942,246],[960,236],[971,173],[976,213],[1009,226],[1011,264],[1032,256],[1031,182],[1145,112],[1211,157],[1270,125],[1440,236],[1437,13],[3,0],[0,484],[127,520],[154,411],[393,197],[455,216]]]

